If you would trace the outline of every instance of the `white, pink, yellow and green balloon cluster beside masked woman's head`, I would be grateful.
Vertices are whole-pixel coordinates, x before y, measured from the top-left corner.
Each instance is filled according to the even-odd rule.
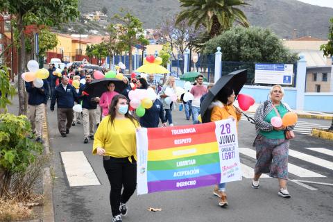
[[[157,98],[154,89],[135,89],[128,92],[130,98],[130,107],[135,109],[138,117],[143,117],[146,113],[145,109],[153,106],[153,101]]]

